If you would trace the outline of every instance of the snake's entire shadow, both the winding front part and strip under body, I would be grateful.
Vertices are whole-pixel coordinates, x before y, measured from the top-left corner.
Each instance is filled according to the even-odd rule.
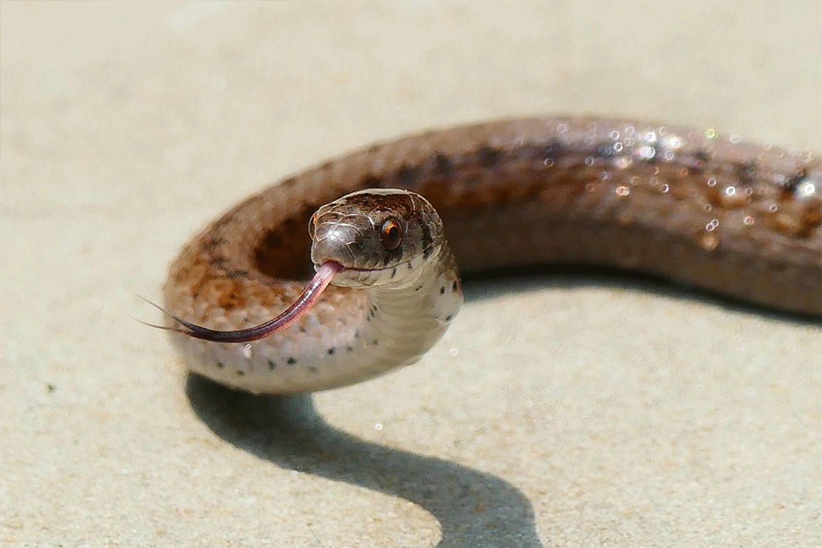
[[[822,327],[819,318],[770,311],[727,297],[692,292],[653,276],[614,269],[555,268],[552,277],[534,269],[506,277],[473,275],[466,302],[512,291],[564,290],[588,285],[700,300],[771,320]],[[544,271],[542,272],[544,274]],[[533,508],[515,486],[486,472],[360,440],[330,426],[310,394],[255,396],[188,375],[192,408],[216,435],[279,467],[344,481],[401,497],[431,513],[441,527],[439,548],[542,548]]]

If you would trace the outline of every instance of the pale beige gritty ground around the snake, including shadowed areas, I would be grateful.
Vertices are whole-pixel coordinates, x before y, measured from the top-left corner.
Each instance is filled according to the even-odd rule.
[[[822,545],[819,323],[494,279],[416,366],[253,398],[129,317],[235,201],[425,127],[612,113],[822,150],[820,2],[472,6],[0,4],[0,544]]]

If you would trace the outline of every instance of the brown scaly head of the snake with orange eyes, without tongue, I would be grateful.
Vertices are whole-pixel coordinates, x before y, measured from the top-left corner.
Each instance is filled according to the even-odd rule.
[[[397,189],[353,192],[323,205],[308,231],[315,268],[339,263],[343,269],[331,283],[353,288],[413,282],[444,242],[428,200]]]

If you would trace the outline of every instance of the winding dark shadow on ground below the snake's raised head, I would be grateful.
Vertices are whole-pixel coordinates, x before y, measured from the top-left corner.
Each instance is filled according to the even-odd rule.
[[[206,426],[279,467],[401,497],[440,523],[439,548],[542,548],[533,509],[499,477],[360,440],[330,426],[310,394],[256,396],[190,374],[186,394]]]

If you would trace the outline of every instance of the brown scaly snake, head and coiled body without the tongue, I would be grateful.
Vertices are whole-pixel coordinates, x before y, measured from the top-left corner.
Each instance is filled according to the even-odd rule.
[[[225,385],[330,389],[436,343],[462,303],[456,265],[551,264],[818,316],[822,160],[604,117],[373,145],[244,200],[189,242],[164,288],[167,329],[191,371]]]

